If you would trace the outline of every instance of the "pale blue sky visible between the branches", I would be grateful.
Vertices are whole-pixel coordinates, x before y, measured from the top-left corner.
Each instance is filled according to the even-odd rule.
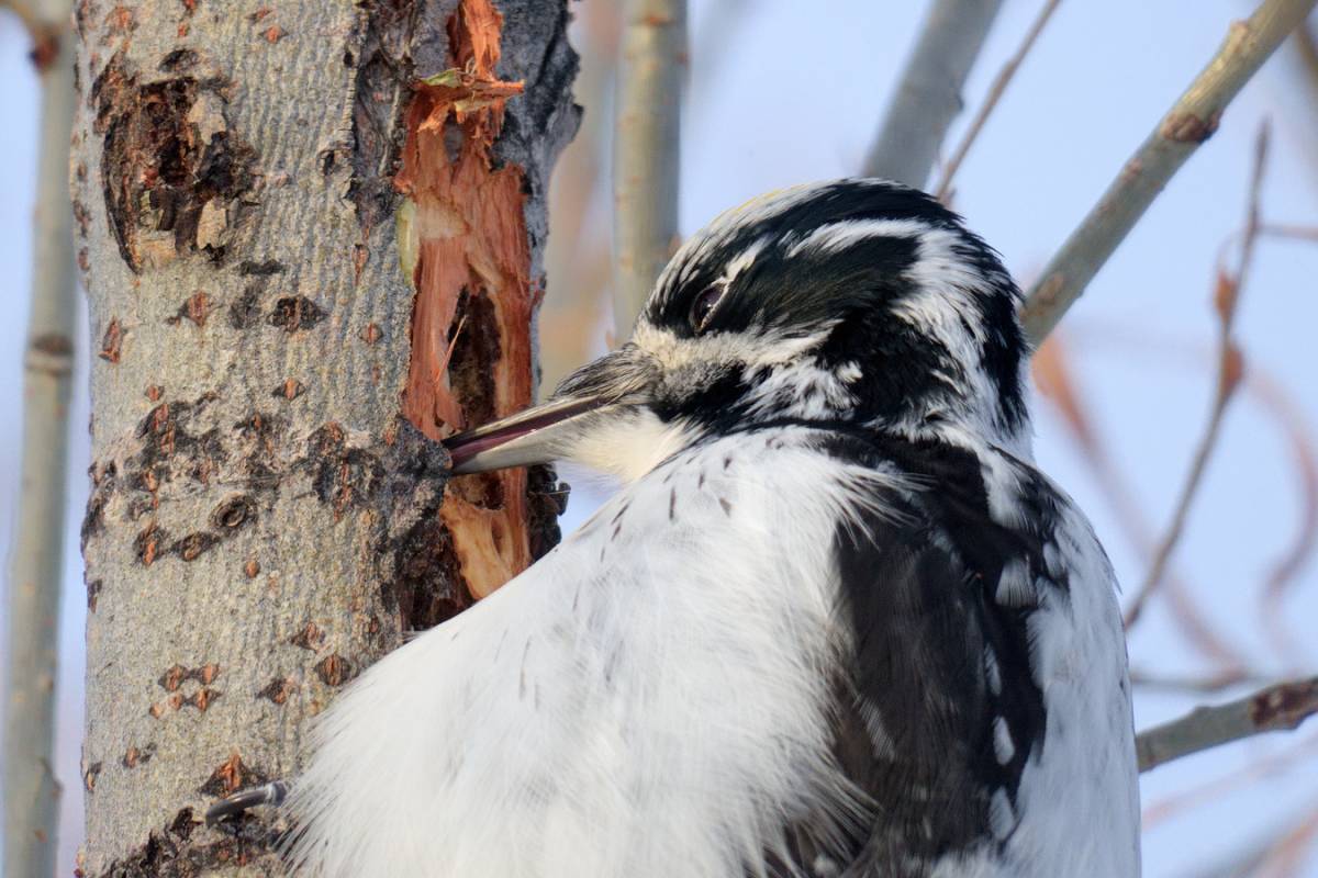
[[[600,0],[587,0],[593,1]],[[1040,3],[1006,3],[971,75],[971,107]],[[925,7],[746,0],[734,26],[710,34],[704,24],[713,5],[714,0],[692,1],[692,45],[722,57],[712,76],[702,75],[712,58],[692,59],[681,182],[681,228],[688,233],[762,191],[854,174]],[[1046,261],[1217,50],[1228,22],[1249,7],[1234,0],[1062,3],[958,176],[958,209],[1003,253],[1019,279],[1028,280]],[[0,357],[0,552],[5,555],[13,530],[32,270],[36,86],[26,51],[26,37],[14,21],[0,17],[0,82],[7,84],[0,90],[5,120],[0,265],[7,266],[8,280],[0,295],[0,350],[8,351]],[[1102,433],[1157,528],[1169,516],[1205,420],[1211,371],[1198,351],[1209,350],[1215,332],[1209,307],[1213,266],[1219,244],[1240,224],[1252,142],[1264,117],[1273,121],[1265,215],[1276,222],[1318,225],[1318,103],[1302,92],[1294,63],[1278,55],[1246,88],[1218,134],[1173,180],[1064,324],[1075,341],[1081,384]],[[1310,425],[1318,423],[1315,278],[1318,246],[1264,242],[1239,315],[1248,361],[1282,382]],[[554,294],[551,278],[548,295]],[[86,498],[84,376],[76,392],[57,765],[70,817],[62,828],[66,839],[80,831],[76,740],[84,595],[76,525]],[[1039,405],[1037,426],[1043,467],[1089,511],[1127,592],[1133,591],[1143,566],[1093,473],[1045,405]],[[580,520],[589,503],[581,492],[569,517]],[[1219,631],[1273,674],[1297,669],[1288,669],[1259,625],[1256,594],[1297,516],[1289,452],[1261,408],[1242,399],[1228,413],[1177,569],[1205,596]],[[1318,566],[1305,570],[1286,611],[1297,628],[1313,629]],[[1132,663],[1144,669],[1202,669],[1162,604],[1153,606],[1136,631],[1131,654]],[[1300,666],[1318,669],[1318,649],[1309,648]],[[1194,700],[1141,691],[1137,724],[1177,715]],[[1145,804],[1230,774],[1261,754],[1313,742],[1315,733],[1318,728],[1255,740],[1155,771],[1144,778]],[[1145,836],[1145,874],[1201,874],[1313,808],[1318,808],[1318,746],[1310,744],[1309,758],[1155,825]],[[62,846],[61,874],[69,874],[71,845]],[[1306,862],[1304,874],[1318,875],[1318,860]]]

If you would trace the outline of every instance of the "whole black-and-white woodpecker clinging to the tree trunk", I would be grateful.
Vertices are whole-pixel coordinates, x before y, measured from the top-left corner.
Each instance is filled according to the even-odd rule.
[[[291,864],[1137,875],[1115,578],[1032,462],[1020,297],[895,183],[717,217],[626,345],[447,442],[621,487],[316,720]]]

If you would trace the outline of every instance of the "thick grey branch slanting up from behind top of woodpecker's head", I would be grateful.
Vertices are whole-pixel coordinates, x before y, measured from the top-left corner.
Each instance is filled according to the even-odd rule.
[[[1002,0],[934,0],[865,159],[866,176],[924,186],[1000,8]]]

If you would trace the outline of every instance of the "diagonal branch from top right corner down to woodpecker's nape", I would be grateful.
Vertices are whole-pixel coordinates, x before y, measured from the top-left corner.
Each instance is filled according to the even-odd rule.
[[[1217,130],[1222,111],[1315,3],[1265,0],[1248,21],[1231,25],[1218,54],[1126,162],[1029,291],[1021,319],[1031,338],[1037,342],[1057,325],[1172,175]]]

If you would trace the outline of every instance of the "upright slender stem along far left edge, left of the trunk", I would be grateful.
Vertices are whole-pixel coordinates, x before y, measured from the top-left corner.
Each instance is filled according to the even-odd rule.
[[[54,11],[47,11],[54,12]],[[63,17],[69,17],[67,4]],[[22,486],[9,567],[9,687],[4,746],[4,874],[53,875],[59,820],[55,666],[63,582],[65,475],[74,365],[75,279],[69,138],[72,51],[59,24],[33,32],[41,71],[41,162],[33,222],[32,313],[24,371]]]

